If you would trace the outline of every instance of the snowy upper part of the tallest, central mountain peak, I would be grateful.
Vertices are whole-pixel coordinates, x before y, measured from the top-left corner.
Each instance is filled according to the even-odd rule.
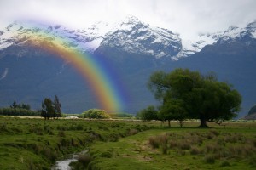
[[[149,26],[136,17],[126,18],[116,28],[108,32],[101,45],[155,58],[175,56],[182,48],[177,34]]]

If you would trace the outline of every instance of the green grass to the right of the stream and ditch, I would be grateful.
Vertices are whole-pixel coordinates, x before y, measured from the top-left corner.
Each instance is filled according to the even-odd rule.
[[[188,124],[192,126],[192,124]],[[194,124],[195,125],[195,124]],[[256,123],[151,129],[90,147],[92,169],[255,169]],[[111,153],[111,159],[102,153]]]

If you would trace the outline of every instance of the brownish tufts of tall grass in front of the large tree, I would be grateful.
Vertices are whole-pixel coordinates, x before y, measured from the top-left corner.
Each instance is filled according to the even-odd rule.
[[[153,149],[161,148],[163,154],[167,154],[167,150],[174,150],[179,155],[203,155],[202,161],[205,163],[224,160],[223,167],[229,166],[230,159],[248,161],[256,157],[256,139],[241,133],[220,133],[216,130],[206,133],[166,133],[150,137],[148,144]]]

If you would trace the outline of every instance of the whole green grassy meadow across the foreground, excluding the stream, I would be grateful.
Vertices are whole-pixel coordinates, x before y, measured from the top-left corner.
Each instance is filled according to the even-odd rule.
[[[50,169],[89,150],[75,169],[255,169],[256,122],[166,123],[0,116],[1,169]]]

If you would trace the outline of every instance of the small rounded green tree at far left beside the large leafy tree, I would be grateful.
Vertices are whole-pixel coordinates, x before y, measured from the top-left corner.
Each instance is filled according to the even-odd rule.
[[[143,121],[158,120],[157,113],[158,111],[155,110],[154,106],[149,105],[148,108],[139,111],[137,116],[140,117]]]

